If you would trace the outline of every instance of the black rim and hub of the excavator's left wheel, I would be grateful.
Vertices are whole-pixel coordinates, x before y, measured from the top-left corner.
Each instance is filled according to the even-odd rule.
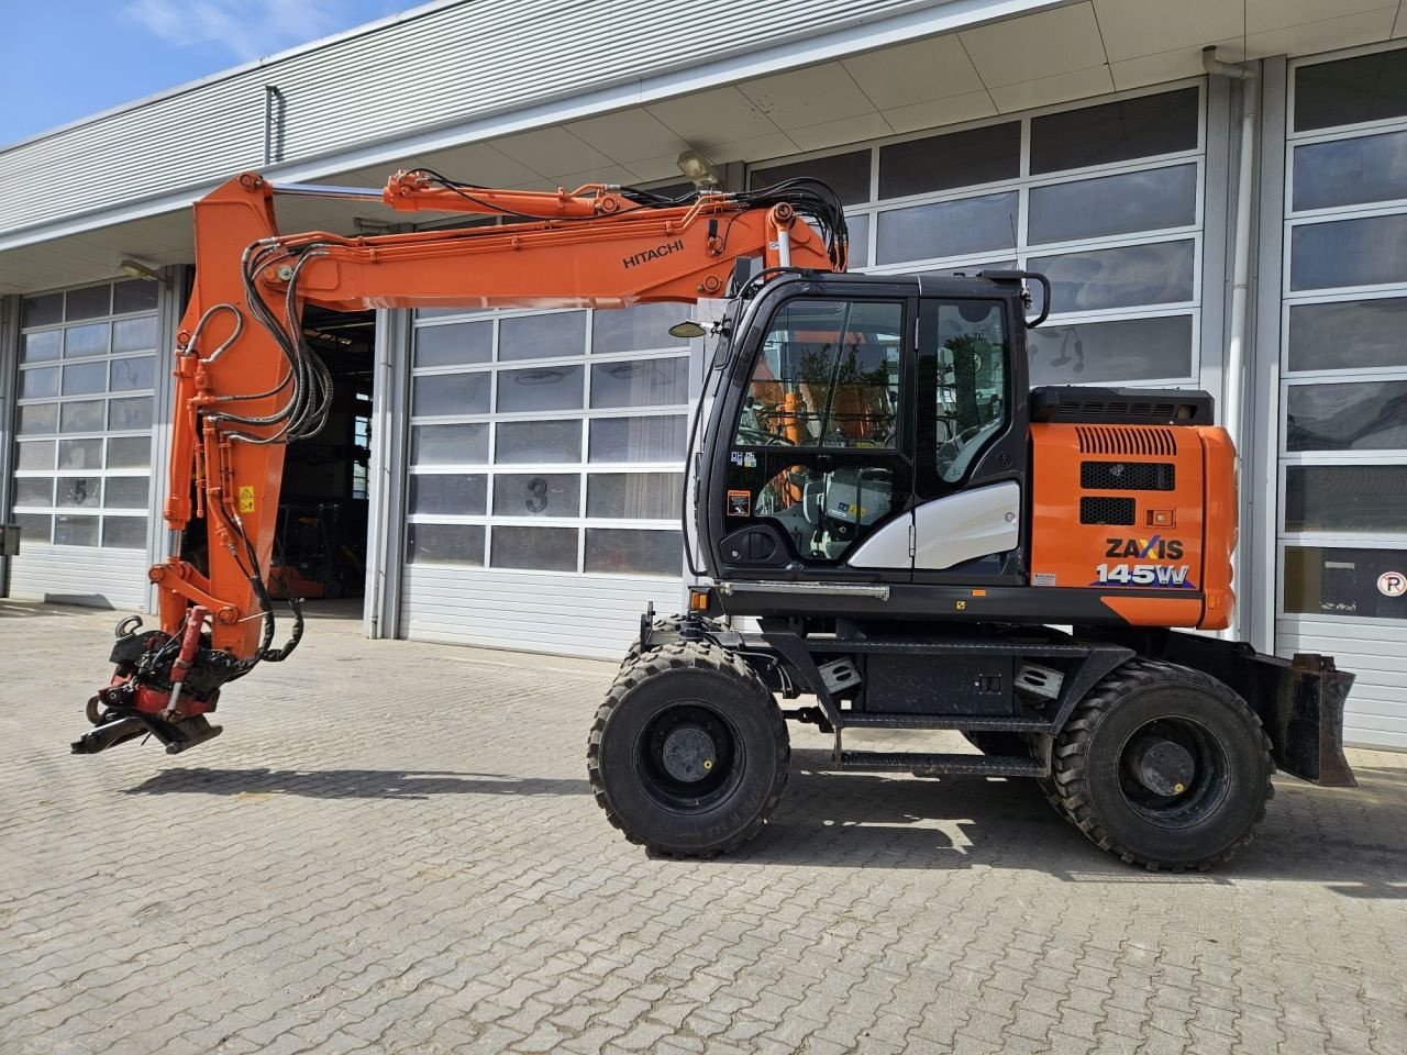
[[[644,727],[636,769],[650,796],[677,813],[699,813],[727,798],[744,748],[732,722],[699,701],[674,703]]]

